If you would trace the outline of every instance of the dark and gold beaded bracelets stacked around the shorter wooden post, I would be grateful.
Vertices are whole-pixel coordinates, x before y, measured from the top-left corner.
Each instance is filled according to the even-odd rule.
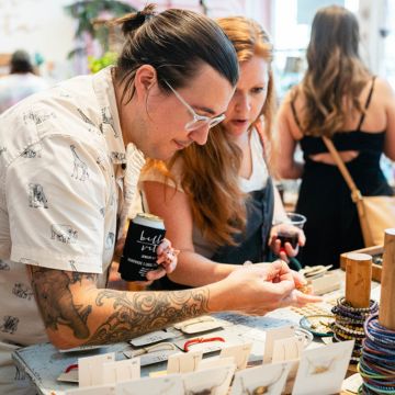
[[[336,341],[356,340],[352,351],[352,363],[358,363],[362,351],[362,340],[365,337],[363,325],[366,318],[379,311],[379,304],[371,301],[369,307],[352,307],[345,297],[338,300],[337,305],[331,312],[335,315],[335,321],[330,328]]]

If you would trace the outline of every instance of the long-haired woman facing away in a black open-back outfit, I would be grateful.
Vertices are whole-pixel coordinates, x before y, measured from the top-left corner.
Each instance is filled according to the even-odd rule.
[[[332,140],[363,195],[392,195],[380,168],[395,159],[394,93],[359,56],[357,18],[342,7],[317,11],[308,68],[279,111],[283,178],[302,178],[296,211],[307,216],[302,263],[339,266],[339,255],[364,246],[351,193],[323,136]],[[294,160],[296,145],[304,163]]]

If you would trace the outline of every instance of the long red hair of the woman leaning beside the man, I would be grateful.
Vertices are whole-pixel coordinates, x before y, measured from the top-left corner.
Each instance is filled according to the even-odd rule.
[[[235,46],[239,63],[248,61],[255,55],[261,56],[269,65],[268,93],[259,116],[264,116],[264,140],[271,142],[274,109],[273,76],[270,68],[272,45],[268,34],[255,21],[242,16],[217,20]],[[257,120],[259,121],[259,120]],[[240,190],[238,173],[241,166],[241,149],[232,142],[219,124],[208,134],[204,146],[192,144],[178,151],[167,163],[167,172],[158,161],[150,161],[166,177],[181,160],[181,185],[188,194],[193,221],[203,237],[215,246],[235,245],[233,235],[246,227],[246,198]]]

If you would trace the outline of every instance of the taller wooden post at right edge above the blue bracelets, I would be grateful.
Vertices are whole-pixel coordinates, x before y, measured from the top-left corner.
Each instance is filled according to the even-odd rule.
[[[395,330],[395,228],[386,229],[384,237],[384,256],[382,289],[380,296],[379,323]]]

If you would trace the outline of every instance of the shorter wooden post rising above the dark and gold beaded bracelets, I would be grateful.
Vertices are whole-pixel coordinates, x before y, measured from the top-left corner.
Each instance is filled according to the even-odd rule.
[[[356,308],[370,306],[372,257],[366,253],[346,255],[346,301]]]

